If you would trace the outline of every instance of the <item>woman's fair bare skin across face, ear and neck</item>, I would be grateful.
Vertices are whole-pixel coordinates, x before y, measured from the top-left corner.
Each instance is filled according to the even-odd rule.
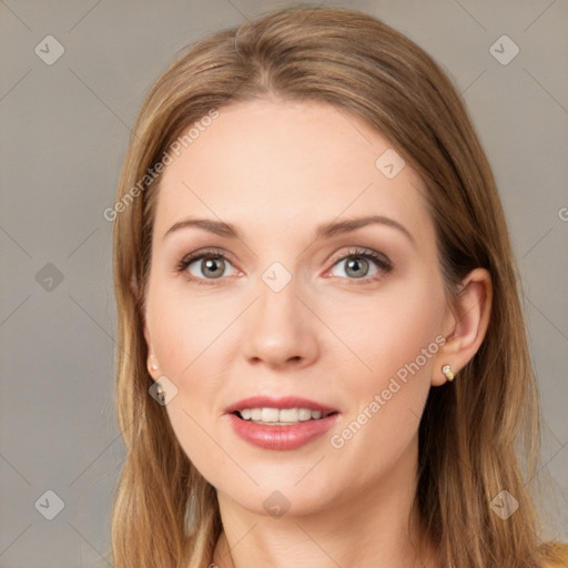
[[[220,109],[165,170],[144,324],[148,365],[155,379],[175,385],[165,406],[173,429],[217,490],[221,567],[442,566],[432,545],[416,559],[408,534],[419,418],[429,389],[446,382],[442,366],[458,373],[478,349],[490,277],[473,271],[457,300],[447,301],[426,187],[408,164],[393,179],[375,166],[389,148],[345,110],[262,100]],[[369,214],[397,221],[414,242],[385,225],[313,237],[320,223]],[[164,237],[190,216],[233,223],[242,237],[195,227]],[[175,272],[184,256],[209,246],[224,252],[225,272],[223,261],[207,272],[197,260],[185,275],[211,285]],[[349,271],[345,256],[354,246],[386,255],[393,270],[363,261]],[[280,292],[262,278],[274,262],[292,275]],[[446,343],[419,372],[334,448],[331,436],[439,335]],[[305,396],[339,416],[306,446],[262,449],[224,415],[257,394]],[[263,506],[274,490],[290,503],[282,517]]]

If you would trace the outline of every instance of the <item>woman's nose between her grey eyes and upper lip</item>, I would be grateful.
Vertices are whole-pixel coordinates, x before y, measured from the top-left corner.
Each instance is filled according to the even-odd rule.
[[[251,363],[264,362],[272,368],[293,364],[298,368],[317,357],[318,320],[315,310],[298,297],[297,287],[292,278],[276,291],[260,278],[258,295],[243,329],[243,351]]]

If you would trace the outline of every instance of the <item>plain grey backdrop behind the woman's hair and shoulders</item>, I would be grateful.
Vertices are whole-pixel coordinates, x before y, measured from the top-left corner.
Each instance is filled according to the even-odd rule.
[[[129,126],[178,50],[291,3],[0,0],[1,567],[109,565],[101,555],[124,448],[102,212],[114,202]],[[325,3],[406,33],[470,110],[521,271],[546,420],[540,475],[550,473],[558,503],[547,505],[545,528],[568,541],[568,3]],[[34,52],[49,34],[65,50],[51,65]],[[503,34],[520,49],[508,64],[489,51]],[[48,495],[45,506],[47,490],[64,501],[53,520],[40,514],[55,504]]]

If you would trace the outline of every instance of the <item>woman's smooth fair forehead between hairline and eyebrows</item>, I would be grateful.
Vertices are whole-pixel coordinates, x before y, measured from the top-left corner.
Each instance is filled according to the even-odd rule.
[[[386,138],[348,111],[321,102],[254,101],[221,108],[207,124],[179,155],[171,153],[156,235],[184,216],[282,235],[278,229],[312,230],[336,217],[378,214],[412,229],[417,240],[432,236],[422,180]]]

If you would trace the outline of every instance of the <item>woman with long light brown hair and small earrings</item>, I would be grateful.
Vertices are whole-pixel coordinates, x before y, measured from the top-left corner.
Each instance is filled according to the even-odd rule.
[[[133,132],[115,566],[562,566],[507,226],[439,67],[287,9],[183,53]]]

